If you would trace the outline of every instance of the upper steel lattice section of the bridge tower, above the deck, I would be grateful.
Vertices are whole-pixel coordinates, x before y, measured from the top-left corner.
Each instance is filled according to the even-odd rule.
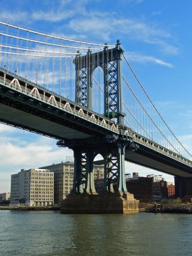
[[[123,124],[122,92],[121,92],[121,55],[123,50],[119,40],[115,49],[108,49],[75,58],[76,102],[92,109],[92,75],[96,67],[101,67],[104,73],[104,115],[110,119],[117,118],[117,123]]]

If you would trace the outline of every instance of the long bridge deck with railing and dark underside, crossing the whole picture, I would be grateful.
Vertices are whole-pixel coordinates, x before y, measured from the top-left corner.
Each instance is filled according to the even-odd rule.
[[[92,110],[0,68],[0,122],[55,139],[103,138],[121,134],[139,148],[125,159],[181,177],[192,177],[192,162],[128,127],[123,130]]]

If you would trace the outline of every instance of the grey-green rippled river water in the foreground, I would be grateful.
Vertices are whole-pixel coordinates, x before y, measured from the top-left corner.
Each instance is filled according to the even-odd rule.
[[[0,255],[192,255],[192,215],[0,211]]]

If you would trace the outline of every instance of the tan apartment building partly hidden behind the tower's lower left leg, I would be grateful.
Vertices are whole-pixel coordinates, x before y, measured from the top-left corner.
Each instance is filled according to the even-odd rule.
[[[59,204],[69,195],[73,188],[74,162],[61,162],[40,168],[49,169],[54,172],[54,198],[55,203]],[[94,165],[94,179],[104,178],[104,166]]]

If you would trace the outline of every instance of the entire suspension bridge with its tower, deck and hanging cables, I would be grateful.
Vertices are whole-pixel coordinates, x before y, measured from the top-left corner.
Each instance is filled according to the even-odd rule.
[[[103,193],[114,194],[117,179],[124,204],[135,204],[123,197],[125,160],[174,175],[177,196],[192,195],[191,154],[160,115],[119,40],[83,42],[0,22],[0,53],[1,123],[53,137],[74,152],[65,210],[70,200],[77,203],[74,195],[96,195],[98,154],[104,159]]]

